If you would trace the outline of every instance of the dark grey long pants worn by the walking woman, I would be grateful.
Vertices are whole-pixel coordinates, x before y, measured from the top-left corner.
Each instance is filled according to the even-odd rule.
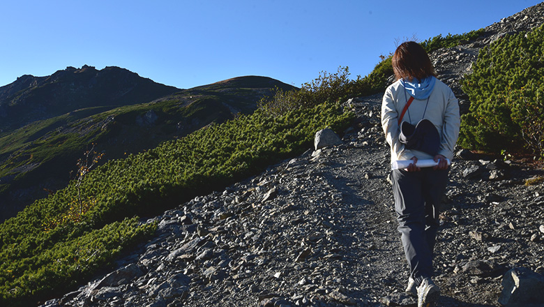
[[[393,195],[398,231],[410,267],[410,277],[421,282],[432,277],[432,254],[438,230],[442,197],[448,170],[422,168],[420,172],[393,170]]]

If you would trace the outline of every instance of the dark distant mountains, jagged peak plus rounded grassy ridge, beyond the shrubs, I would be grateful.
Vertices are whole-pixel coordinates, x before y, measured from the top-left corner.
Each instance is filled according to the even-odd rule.
[[[116,79],[121,81],[107,89],[97,85]],[[78,82],[86,86],[73,91],[72,84]],[[0,220],[46,197],[47,190],[66,186],[70,171],[91,143],[96,144],[96,151],[105,153],[104,160],[123,158],[210,123],[232,119],[237,113],[249,114],[275,87],[294,89],[269,77],[247,76],[179,90],[142,80],[122,68],[69,68],[50,77],[20,77],[1,88],[3,105],[13,105],[9,112],[28,105],[40,105],[31,109],[43,111],[17,120],[50,117],[0,134]],[[43,100],[36,98],[36,91],[44,93]],[[105,98],[107,95],[112,96]]]

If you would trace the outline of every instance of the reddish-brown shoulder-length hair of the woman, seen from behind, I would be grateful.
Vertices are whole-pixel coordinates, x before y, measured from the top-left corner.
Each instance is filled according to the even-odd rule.
[[[416,42],[405,42],[398,46],[391,59],[393,73],[397,80],[412,77],[422,80],[425,77],[437,76],[435,68],[429,59],[429,55],[421,45]]]

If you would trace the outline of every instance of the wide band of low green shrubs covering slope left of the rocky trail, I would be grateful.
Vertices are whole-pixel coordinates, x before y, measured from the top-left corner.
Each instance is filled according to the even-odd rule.
[[[431,41],[437,46],[448,37]],[[356,80],[349,80],[348,68],[322,73],[299,90],[278,89],[252,114],[110,160],[80,184],[72,181],[37,200],[0,225],[0,304],[27,306],[70,289],[153,233],[156,225],[139,223],[138,216],[225,188],[299,154],[321,128],[341,133],[352,114],[342,112],[339,102],[384,91],[391,75],[390,57]]]

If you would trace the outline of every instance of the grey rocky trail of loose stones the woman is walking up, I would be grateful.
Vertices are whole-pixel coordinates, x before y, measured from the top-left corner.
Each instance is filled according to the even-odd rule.
[[[528,8],[486,28],[476,43],[432,54],[462,106],[459,80],[478,49],[501,33],[542,24],[543,9]],[[357,120],[342,144],[310,149],[148,220],[158,222],[153,239],[42,306],[414,306],[403,293],[407,264],[380,105],[381,94],[349,100],[345,108]],[[513,268],[544,279],[544,186],[525,184],[539,177],[544,169],[532,160],[458,149],[435,250],[438,306],[500,306]]]

